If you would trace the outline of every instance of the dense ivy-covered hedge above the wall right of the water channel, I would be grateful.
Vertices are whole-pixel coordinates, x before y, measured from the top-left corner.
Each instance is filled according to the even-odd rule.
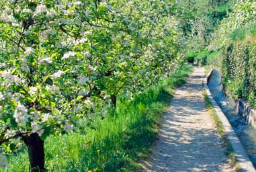
[[[228,95],[243,98],[255,106],[256,93],[256,44],[229,44],[221,54],[222,82]]]

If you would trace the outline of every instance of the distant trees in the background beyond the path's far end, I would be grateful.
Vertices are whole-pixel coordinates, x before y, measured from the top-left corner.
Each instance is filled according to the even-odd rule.
[[[185,49],[200,51],[212,41],[214,28],[231,11],[232,0],[177,1]]]

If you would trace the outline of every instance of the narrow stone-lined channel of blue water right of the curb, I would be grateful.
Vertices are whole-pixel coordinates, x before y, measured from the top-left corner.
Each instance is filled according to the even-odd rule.
[[[213,70],[208,87],[215,101],[220,105],[222,112],[228,118],[232,128],[241,140],[247,151],[251,162],[256,167],[256,129],[249,126],[247,122],[237,113],[236,103],[226,97],[222,92],[220,71]]]

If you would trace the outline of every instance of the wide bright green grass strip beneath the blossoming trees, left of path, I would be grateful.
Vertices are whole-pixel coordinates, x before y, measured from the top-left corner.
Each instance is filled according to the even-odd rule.
[[[156,139],[161,114],[171,101],[175,87],[185,83],[191,66],[184,66],[132,101],[118,102],[116,113],[95,118],[89,128],[81,120],[80,134],[50,136],[45,142],[48,171],[139,171],[140,159],[149,155]],[[86,133],[86,134],[81,134]],[[7,171],[28,171],[26,148],[8,157]]]

